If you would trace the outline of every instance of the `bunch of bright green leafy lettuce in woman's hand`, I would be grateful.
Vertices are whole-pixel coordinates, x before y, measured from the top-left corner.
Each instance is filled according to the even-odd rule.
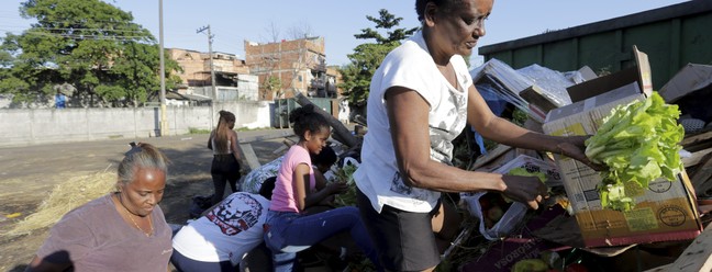
[[[685,129],[677,123],[677,105],[657,93],[643,101],[616,106],[603,118],[596,135],[586,140],[586,156],[605,165],[598,191],[604,208],[630,211],[633,199],[626,186],[647,188],[658,178],[676,180],[682,169],[679,143]]]

